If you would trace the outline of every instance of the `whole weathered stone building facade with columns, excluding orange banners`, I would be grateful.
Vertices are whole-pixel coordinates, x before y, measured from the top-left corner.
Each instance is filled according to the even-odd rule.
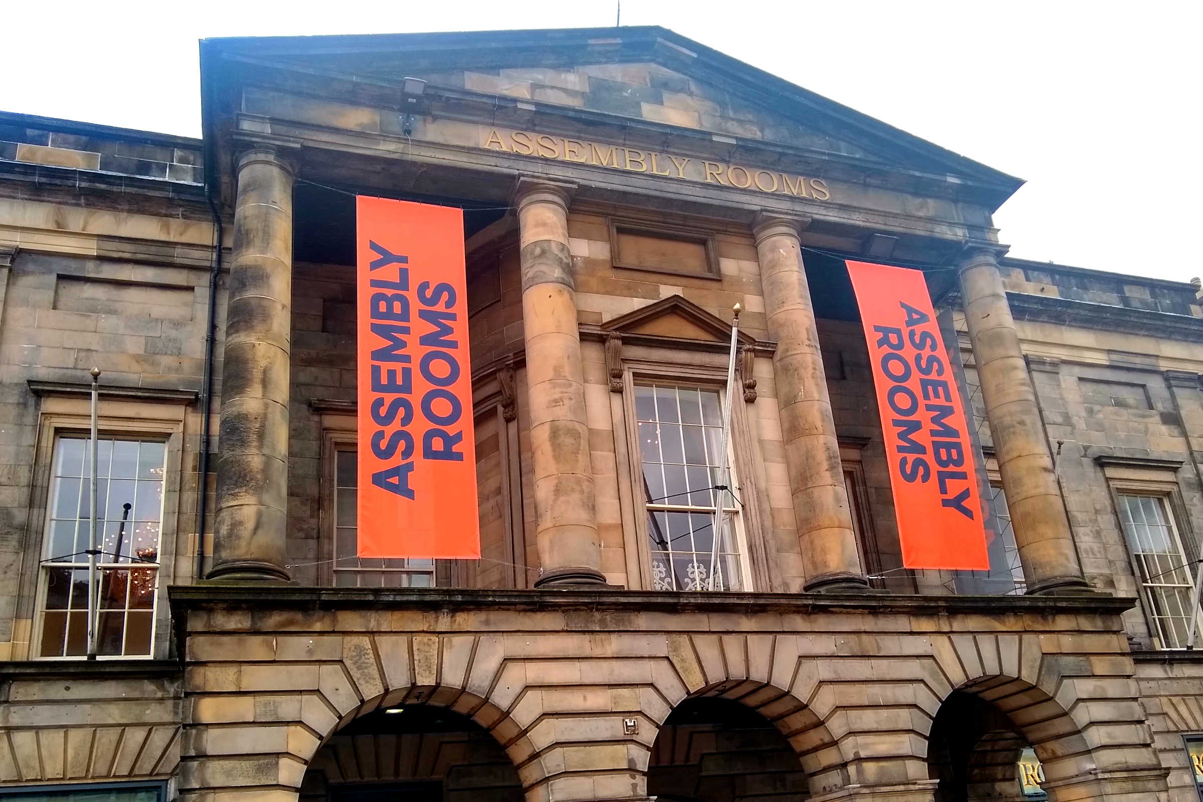
[[[658,28],[201,76],[202,139],[0,115],[0,796],[1198,798],[1197,285]],[[354,557],[355,195],[464,209],[480,560]],[[989,572],[901,568],[845,259],[926,273]]]

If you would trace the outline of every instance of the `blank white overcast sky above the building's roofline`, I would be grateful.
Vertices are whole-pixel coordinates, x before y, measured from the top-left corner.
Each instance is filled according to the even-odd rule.
[[[12,2],[0,109],[200,135],[198,38],[612,25],[615,0]],[[670,28],[1027,185],[1012,255],[1203,274],[1198,0],[622,0]]]

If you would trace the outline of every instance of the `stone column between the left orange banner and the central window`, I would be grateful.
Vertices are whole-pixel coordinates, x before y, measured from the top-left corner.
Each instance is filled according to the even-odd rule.
[[[516,194],[534,509],[543,564],[535,587],[605,582],[568,253],[571,190],[523,178]]]

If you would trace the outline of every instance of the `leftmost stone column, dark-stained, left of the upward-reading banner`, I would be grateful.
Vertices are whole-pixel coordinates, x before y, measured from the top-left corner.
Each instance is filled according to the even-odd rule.
[[[208,577],[288,580],[294,171],[255,149],[237,179]]]

